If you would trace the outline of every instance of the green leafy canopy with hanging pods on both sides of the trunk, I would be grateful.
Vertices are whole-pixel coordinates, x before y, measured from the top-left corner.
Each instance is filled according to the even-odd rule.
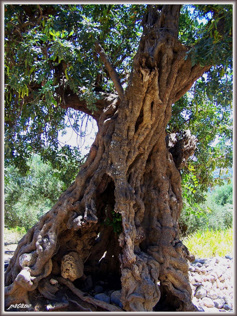
[[[144,4],[5,5],[5,166],[29,170],[32,154],[57,168],[68,185],[82,157],[60,146],[58,132],[72,127],[79,136],[85,114],[65,109],[64,92],[87,102],[92,115],[101,91],[114,91],[95,53],[99,40],[126,87],[139,39]],[[183,5],[179,40],[193,66],[213,65],[173,105],[167,132],[190,129],[198,138],[195,157],[183,173],[185,203],[204,201],[208,187],[222,184],[232,167],[232,5]],[[92,119],[89,117],[89,119]],[[219,144],[212,143],[219,137]],[[70,169],[69,169],[70,168]],[[67,177],[67,179],[65,178]]]

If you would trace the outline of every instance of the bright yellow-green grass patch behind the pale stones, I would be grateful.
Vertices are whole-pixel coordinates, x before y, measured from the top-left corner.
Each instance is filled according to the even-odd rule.
[[[233,228],[198,230],[185,237],[183,243],[196,258],[233,256]]]

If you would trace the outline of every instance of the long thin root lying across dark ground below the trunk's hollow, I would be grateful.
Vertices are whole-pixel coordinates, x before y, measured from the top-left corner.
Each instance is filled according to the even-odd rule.
[[[67,279],[64,279],[62,277],[57,277],[55,279],[58,280],[59,283],[63,283],[64,285],[66,285],[74,294],[76,294],[76,296],[78,296],[84,302],[88,302],[95,306],[99,306],[101,308],[107,309],[110,312],[122,312],[122,309],[117,306],[108,304],[103,301],[96,300],[91,296],[84,296],[85,293],[77,289],[76,286],[73,285],[72,282]]]

